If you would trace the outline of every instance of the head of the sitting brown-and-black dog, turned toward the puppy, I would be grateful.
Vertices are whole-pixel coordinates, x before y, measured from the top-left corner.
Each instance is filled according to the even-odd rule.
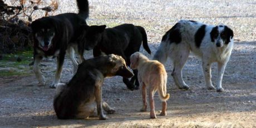
[[[107,77],[110,76],[122,76],[122,77],[132,77],[134,73],[132,73],[126,66],[124,58],[121,56],[117,56],[114,54],[108,55],[109,62],[108,65],[111,67],[111,70],[107,73]]]

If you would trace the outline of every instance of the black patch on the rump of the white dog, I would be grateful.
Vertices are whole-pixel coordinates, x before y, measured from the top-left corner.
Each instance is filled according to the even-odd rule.
[[[176,23],[169,31],[165,33],[165,35],[162,38],[162,41],[167,40],[167,37],[169,35],[169,41],[170,43],[180,43],[181,42],[181,35],[180,35],[180,23]]]

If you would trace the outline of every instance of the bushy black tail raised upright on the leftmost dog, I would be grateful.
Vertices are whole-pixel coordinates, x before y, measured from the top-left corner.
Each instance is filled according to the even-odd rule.
[[[89,17],[89,2],[88,0],[76,0],[77,7],[78,7],[78,14],[86,19]]]

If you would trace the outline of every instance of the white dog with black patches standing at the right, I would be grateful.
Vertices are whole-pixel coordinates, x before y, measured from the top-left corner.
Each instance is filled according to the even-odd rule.
[[[232,29],[224,25],[208,24],[181,20],[162,38],[154,59],[165,63],[168,56],[173,60],[175,84],[179,88],[189,89],[182,78],[182,69],[188,60],[190,51],[203,61],[205,85],[209,90],[215,89],[211,83],[211,63],[218,62],[216,91],[224,92],[221,86],[223,73],[233,48]]]

